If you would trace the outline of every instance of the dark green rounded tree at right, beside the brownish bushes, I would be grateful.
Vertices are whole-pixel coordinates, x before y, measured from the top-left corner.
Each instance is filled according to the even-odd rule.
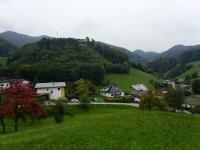
[[[167,101],[168,105],[175,111],[176,109],[181,108],[181,105],[185,100],[185,95],[183,90],[181,90],[180,88],[170,88],[165,94],[164,99]]]

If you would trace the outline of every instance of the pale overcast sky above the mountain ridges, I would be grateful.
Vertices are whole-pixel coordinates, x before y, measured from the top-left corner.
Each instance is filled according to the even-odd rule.
[[[0,0],[0,32],[85,38],[129,50],[200,44],[200,0]]]

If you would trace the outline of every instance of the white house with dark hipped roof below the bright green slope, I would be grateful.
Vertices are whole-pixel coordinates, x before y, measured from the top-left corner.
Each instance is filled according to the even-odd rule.
[[[113,85],[109,85],[100,90],[100,95],[106,97],[124,96],[124,91]]]

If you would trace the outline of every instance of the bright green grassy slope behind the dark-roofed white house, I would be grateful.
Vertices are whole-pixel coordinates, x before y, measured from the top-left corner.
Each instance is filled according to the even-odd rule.
[[[149,83],[149,81],[152,79],[158,80],[158,78],[156,78],[155,76],[134,68],[130,69],[129,74],[108,74],[106,76],[106,80],[108,80],[112,84],[121,87],[128,93],[132,92],[132,88],[130,87],[130,85],[136,83],[143,83],[149,88],[152,88],[153,86]]]

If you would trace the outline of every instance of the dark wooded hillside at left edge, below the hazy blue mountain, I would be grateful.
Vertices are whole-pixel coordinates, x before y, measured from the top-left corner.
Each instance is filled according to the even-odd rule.
[[[9,56],[14,53],[17,48],[8,41],[0,38],[0,56]]]

